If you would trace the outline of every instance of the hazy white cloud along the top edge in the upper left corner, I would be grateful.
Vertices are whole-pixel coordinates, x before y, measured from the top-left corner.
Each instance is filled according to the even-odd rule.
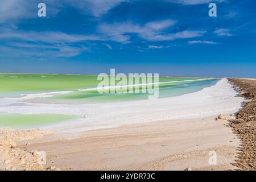
[[[72,6],[82,13],[99,17],[108,13],[119,3],[129,0],[44,0],[47,7],[47,16],[53,16],[65,7]],[[1,1],[0,23],[10,20],[36,18],[38,16],[38,3],[34,0],[5,0]]]

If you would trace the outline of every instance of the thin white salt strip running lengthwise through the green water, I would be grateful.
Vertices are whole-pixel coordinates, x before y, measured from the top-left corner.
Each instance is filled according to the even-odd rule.
[[[125,88],[129,86],[146,86],[146,85],[160,85],[160,84],[169,84],[174,82],[187,82],[187,81],[202,81],[202,80],[210,80],[212,78],[204,78],[204,79],[197,79],[197,80],[179,80],[179,81],[164,81],[164,82],[150,82],[144,84],[130,84],[130,85],[119,85],[119,86],[102,86],[97,88],[87,88],[87,89],[79,89],[79,91],[93,91],[93,90],[108,90],[108,89],[117,89],[117,88]]]

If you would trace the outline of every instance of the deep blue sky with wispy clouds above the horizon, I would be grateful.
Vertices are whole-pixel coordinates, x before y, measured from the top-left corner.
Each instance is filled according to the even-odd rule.
[[[254,0],[0,3],[0,72],[256,77]]]

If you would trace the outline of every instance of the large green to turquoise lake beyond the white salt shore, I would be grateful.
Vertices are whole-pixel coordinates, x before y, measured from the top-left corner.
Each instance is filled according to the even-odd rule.
[[[128,78],[127,78],[128,79]],[[193,81],[201,78],[190,77],[159,77],[159,82],[170,82],[159,85],[159,98],[172,97],[185,93],[196,92],[205,86],[213,85],[217,79]],[[50,98],[35,98],[31,101],[55,104],[84,104],[92,102],[113,102],[126,100],[143,100],[148,94],[100,94],[97,90],[79,91],[79,89],[96,88],[101,81],[97,76],[89,75],[46,75],[46,74],[16,74],[0,73],[0,98],[20,97],[26,94],[56,91],[73,91]],[[118,81],[116,81],[117,83]]]

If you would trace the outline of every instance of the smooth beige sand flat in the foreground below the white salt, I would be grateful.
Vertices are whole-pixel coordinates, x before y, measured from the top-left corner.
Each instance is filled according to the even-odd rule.
[[[234,169],[240,141],[226,123],[210,117],[88,131],[73,140],[49,135],[30,141],[28,151],[46,151],[47,166],[63,170]],[[209,151],[217,165],[208,163]]]

